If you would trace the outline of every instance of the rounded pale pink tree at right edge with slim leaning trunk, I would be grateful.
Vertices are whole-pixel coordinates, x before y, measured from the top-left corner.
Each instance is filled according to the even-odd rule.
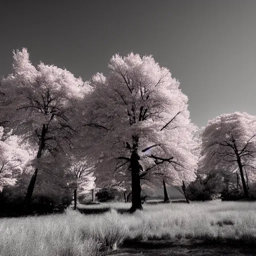
[[[239,171],[245,197],[249,197],[244,167],[256,165],[256,117],[245,112],[221,114],[208,121],[202,133],[204,169]]]

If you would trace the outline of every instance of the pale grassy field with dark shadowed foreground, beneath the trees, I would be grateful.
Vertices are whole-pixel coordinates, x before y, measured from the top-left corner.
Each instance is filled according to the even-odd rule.
[[[68,209],[1,218],[0,255],[188,255],[193,248],[199,251],[190,255],[222,255],[214,254],[219,249],[226,250],[223,255],[254,253],[255,202],[147,203],[133,214],[129,207],[101,203],[80,205],[85,214]],[[241,250],[244,246],[251,249]]]

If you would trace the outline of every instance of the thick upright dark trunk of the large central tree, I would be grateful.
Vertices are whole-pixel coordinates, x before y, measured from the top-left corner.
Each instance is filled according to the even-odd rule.
[[[130,212],[133,212],[137,209],[141,210],[141,200],[140,200],[140,164],[139,164],[139,155],[137,152],[138,149],[138,136],[132,136],[132,149],[130,156],[130,171],[131,171],[131,208]]]

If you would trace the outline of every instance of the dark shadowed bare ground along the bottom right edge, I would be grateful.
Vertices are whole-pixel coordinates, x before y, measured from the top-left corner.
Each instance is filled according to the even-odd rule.
[[[160,240],[125,242],[108,253],[111,256],[247,256],[256,255],[256,247],[238,244],[211,244],[200,240]]]

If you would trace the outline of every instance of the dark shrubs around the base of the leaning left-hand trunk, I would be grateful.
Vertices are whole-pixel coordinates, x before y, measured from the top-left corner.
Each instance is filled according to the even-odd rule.
[[[22,215],[24,199],[31,174],[23,174],[16,185],[5,186],[0,194],[1,215]],[[41,173],[37,176],[28,213],[63,212],[72,201],[72,190],[64,189]]]

